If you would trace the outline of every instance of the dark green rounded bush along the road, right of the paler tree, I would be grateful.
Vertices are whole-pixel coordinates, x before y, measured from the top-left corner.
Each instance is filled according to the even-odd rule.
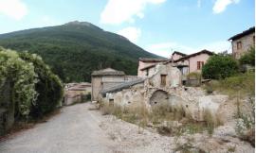
[[[61,103],[64,94],[63,84],[59,77],[51,72],[41,57],[27,52],[20,53],[20,57],[34,65],[34,71],[38,76],[38,82],[35,84],[38,97],[31,107],[30,115],[42,117]]]

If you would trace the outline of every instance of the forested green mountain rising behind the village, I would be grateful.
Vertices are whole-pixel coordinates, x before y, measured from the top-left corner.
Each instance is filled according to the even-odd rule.
[[[125,37],[78,21],[1,34],[0,46],[40,55],[64,82],[90,81],[92,71],[106,67],[136,75],[138,58],[160,58]]]

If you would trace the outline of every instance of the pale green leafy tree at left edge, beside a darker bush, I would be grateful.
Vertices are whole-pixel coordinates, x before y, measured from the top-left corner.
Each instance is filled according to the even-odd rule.
[[[9,81],[10,103],[16,106],[16,117],[27,116],[35,103],[36,77],[33,64],[21,59],[15,51],[0,47],[0,88]]]

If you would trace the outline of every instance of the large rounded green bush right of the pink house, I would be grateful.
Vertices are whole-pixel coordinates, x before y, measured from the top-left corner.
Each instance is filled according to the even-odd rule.
[[[204,78],[220,79],[233,76],[238,72],[238,63],[229,56],[214,55],[203,66]]]

